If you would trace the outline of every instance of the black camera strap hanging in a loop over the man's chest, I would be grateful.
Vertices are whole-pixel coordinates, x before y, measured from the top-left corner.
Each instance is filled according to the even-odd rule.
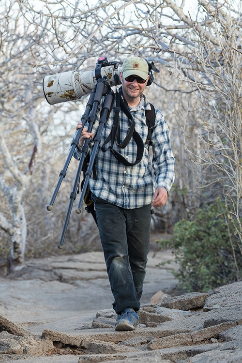
[[[128,134],[125,136],[124,140],[120,142],[120,122],[119,122],[119,113],[120,110],[122,110],[125,115],[129,119],[129,131]],[[116,137],[117,135],[117,137]],[[134,163],[129,163],[127,159],[125,159],[118,151],[113,150],[113,145],[116,137],[116,144],[121,148],[124,149],[128,143],[130,142],[131,138],[133,137],[136,146],[137,146],[137,153],[136,153],[136,161]],[[105,150],[104,146],[111,141],[111,145]],[[119,160],[122,164],[126,166],[134,166],[138,164],[143,156],[144,152],[144,143],[140,135],[137,133],[135,129],[135,121],[133,119],[133,116],[131,112],[129,111],[127,105],[125,105],[124,101],[121,98],[121,88],[119,92],[116,93],[116,107],[115,107],[115,115],[114,115],[114,122],[112,126],[112,130],[108,137],[106,138],[103,146],[101,147],[101,150],[106,152],[108,149],[112,152],[114,157]]]

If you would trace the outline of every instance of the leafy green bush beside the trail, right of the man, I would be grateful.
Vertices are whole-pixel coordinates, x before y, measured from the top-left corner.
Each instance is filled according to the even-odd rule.
[[[162,248],[173,249],[180,264],[179,272],[173,274],[184,290],[209,291],[242,278],[240,242],[221,208],[218,201],[198,210],[193,221],[175,224],[170,240],[159,242]]]

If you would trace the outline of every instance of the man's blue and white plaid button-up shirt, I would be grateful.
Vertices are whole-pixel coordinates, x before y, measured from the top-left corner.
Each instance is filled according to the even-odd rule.
[[[151,106],[144,95],[142,95],[139,105],[130,109],[136,122],[136,131],[141,136],[144,145],[148,136],[145,109],[151,109]],[[105,199],[121,208],[133,209],[150,204],[153,199],[155,187],[164,187],[169,192],[174,181],[175,159],[171,151],[170,136],[166,121],[157,108],[155,108],[155,113],[155,126],[152,133],[152,161],[149,156],[148,146],[145,145],[143,158],[140,163],[135,166],[125,166],[114,157],[110,150],[106,152],[101,150],[101,146],[112,128],[115,114],[113,107],[107,124],[104,127],[101,144],[96,155],[97,180],[91,177],[89,181],[90,189],[97,197]],[[99,120],[99,117],[100,109],[97,114],[97,120]],[[97,127],[98,121],[93,126],[92,131],[94,133]],[[128,118],[120,111],[120,141],[127,135],[128,127]],[[93,143],[90,143],[90,148],[91,145]],[[108,146],[109,144],[105,148]],[[133,138],[125,149],[119,148],[116,143],[114,143],[113,149],[121,153],[130,163],[136,160],[137,147]],[[80,152],[77,148],[74,152],[74,157],[77,160],[80,158]],[[152,168],[155,180],[152,175]]]

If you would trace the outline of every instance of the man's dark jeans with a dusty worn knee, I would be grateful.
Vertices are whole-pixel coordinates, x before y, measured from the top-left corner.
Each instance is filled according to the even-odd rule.
[[[150,248],[151,204],[123,209],[92,194],[117,314],[137,311]]]

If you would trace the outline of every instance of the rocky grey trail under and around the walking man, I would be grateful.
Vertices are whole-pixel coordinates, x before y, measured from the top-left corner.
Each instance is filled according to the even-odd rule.
[[[0,270],[0,362],[241,363],[242,282],[174,296],[178,266],[158,266],[167,259],[170,251],[149,254],[133,332],[114,330],[102,252]]]

